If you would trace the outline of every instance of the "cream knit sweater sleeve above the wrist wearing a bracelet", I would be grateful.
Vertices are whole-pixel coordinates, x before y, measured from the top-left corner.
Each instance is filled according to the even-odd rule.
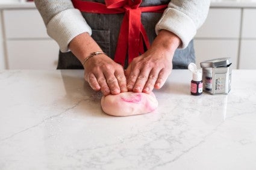
[[[73,7],[70,0],[34,0],[48,35],[57,41],[61,52],[67,52],[68,44],[83,32],[92,34],[92,29],[81,12]]]

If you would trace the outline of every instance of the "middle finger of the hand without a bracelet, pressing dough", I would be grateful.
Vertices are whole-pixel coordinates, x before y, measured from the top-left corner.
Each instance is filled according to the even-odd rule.
[[[143,69],[139,76],[137,77],[136,83],[134,85],[133,91],[134,92],[142,92],[145,87],[146,82],[148,81],[148,76],[151,71],[151,68]]]

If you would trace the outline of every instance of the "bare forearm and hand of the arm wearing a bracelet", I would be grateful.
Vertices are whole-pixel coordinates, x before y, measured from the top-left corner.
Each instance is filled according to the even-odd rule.
[[[102,51],[87,32],[73,38],[69,43],[69,49],[81,63],[93,52]],[[101,90],[104,96],[127,91],[123,67],[107,55],[99,54],[86,61],[84,79],[89,82],[93,90]]]

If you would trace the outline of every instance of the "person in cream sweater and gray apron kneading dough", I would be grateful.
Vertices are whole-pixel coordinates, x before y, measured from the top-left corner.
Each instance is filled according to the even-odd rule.
[[[195,62],[192,38],[210,5],[210,0],[35,2],[60,46],[58,68],[84,68],[90,87],[105,96],[150,93],[164,85],[172,68]]]

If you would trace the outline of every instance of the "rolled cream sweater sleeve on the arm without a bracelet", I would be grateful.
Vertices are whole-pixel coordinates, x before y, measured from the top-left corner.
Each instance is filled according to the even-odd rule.
[[[204,23],[209,7],[210,0],[172,0],[155,26],[155,31],[157,34],[161,29],[173,32],[180,37],[180,48],[184,49]]]

